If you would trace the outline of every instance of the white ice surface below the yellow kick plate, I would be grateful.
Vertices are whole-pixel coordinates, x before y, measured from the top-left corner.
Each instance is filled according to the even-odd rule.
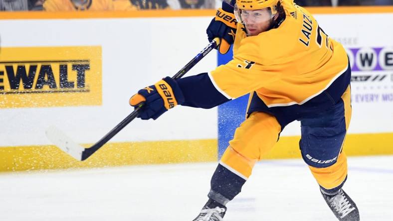
[[[362,221],[393,218],[393,156],[350,157]],[[216,163],[0,174],[0,221],[191,221]],[[258,163],[225,221],[335,221],[301,159]]]

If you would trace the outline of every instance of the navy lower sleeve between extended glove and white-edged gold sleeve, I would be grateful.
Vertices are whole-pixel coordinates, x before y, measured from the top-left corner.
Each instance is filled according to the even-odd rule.
[[[177,83],[185,98],[182,106],[209,109],[230,101],[217,91],[207,73],[181,78]]]

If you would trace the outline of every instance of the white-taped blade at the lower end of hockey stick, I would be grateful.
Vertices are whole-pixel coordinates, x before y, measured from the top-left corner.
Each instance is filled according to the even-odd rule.
[[[65,133],[55,126],[50,126],[45,130],[46,137],[62,151],[71,155],[75,159],[82,160],[82,152],[84,147],[80,146],[69,138]]]

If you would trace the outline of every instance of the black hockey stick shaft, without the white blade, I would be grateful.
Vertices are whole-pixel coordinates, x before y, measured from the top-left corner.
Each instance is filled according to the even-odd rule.
[[[212,49],[219,45],[219,38],[212,40],[202,51],[200,51],[197,56],[193,58],[189,63],[187,63],[178,73],[176,73],[172,78],[179,79],[183,77],[191,68],[193,68],[202,58],[208,54]],[[130,113],[126,118],[124,118],[119,124],[117,124],[111,131],[109,131],[104,137],[102,137],[97,143],[95,143],[90,148],[87,148],[82,153],[82,159],[85,160],[89,158],[94,152],[100,149],[105,143],[107,143],[113,136],[115,136],[120,130],[122,130],[127,124],[129,124],[133,119],[139,115],[143,105],[137,107],[132,113]]]

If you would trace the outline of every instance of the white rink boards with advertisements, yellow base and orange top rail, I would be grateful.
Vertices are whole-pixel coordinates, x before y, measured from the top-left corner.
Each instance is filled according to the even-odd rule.
[[[393,7],[309,10],[351,61],[346,152],[393,154]],[[133,93],[174,75],[206,45],[211,14],[0,13],[0,171],[217,160],[244,119],[241,99],[226,109],[178,107],[156,121],[136,119],[82,163],[44,135],[56,125],[78,143],[96,142],[132,111]],[[220,59],[214,51],[188,75],[214,69]],[[288,125],[266,158],[300,157],[299,135],[297,122]]]

